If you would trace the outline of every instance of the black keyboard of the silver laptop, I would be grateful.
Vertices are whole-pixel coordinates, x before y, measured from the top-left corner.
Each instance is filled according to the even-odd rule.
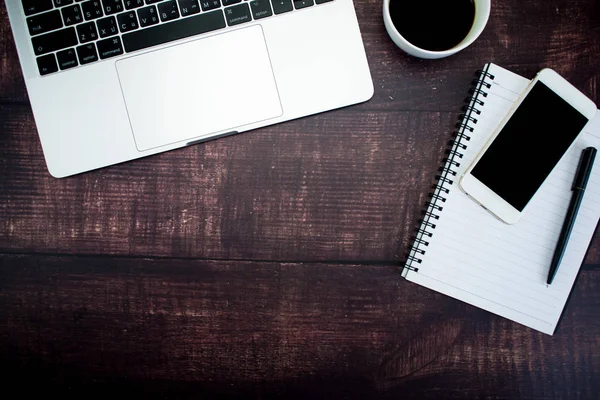
[[[21,0],[40,75],[333,0]]]

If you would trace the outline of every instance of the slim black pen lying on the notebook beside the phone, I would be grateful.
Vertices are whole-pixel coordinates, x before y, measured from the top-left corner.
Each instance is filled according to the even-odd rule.
[[[587,182],[592,173],[595,158],[596,149],[594,147],[588,147],[581,153],[579,166],[577,167],[575,180],[573,181],[573,187],[571,188],[573,196],[571,196],[571,203],[569,203],[569,208],[567,209],[567,216],[565,217],[565,222],[560,231],[560,236],[558,237],[556,250],[554,250],[554,255],[552,256],[552,263],[550,264],[550,273],[548,274],[547,281],[548,285],[552,283],[556,271],[558,270],[558,266],[560,265],[560,260],[562,260],[562,256],[565,253],[569,236],[571,236],[571,230],[573,230],[573,225],[575,225],[575,218],[577,218],[581,200],[583,200],[585,187],[587,186]]]

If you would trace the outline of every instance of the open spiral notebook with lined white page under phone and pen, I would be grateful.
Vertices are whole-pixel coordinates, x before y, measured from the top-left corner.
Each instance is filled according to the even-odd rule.
[[[563,261],[554,282],[547,285],[581,151],[587,146],[600,148],[600,117],[587,126],[517,224],[496,219],[471,200],[458,183],[528,83],[494,64],[487,64],[478,73],[402,275],[551,335],[600,217],[597,157]]]

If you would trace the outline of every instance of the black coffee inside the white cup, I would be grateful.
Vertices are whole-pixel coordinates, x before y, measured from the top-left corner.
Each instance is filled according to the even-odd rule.
[[[469,33],[475,19],[473,0],[390,0],[396,30],[425,50],[448,50]]]

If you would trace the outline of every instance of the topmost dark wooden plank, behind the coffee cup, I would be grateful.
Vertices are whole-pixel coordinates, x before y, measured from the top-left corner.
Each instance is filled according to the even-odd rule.
[[[356,0],[375,85],[360,110],[454,111],[473,72],[486,62],[533,77],[555,68],[600,103],[600,13],[593,0],[497,0],[486,30],[465,51],[443,60],[405,55],[387,36],[381,2]],[[6,9],[0,5],[0,102],[26,102]]]

